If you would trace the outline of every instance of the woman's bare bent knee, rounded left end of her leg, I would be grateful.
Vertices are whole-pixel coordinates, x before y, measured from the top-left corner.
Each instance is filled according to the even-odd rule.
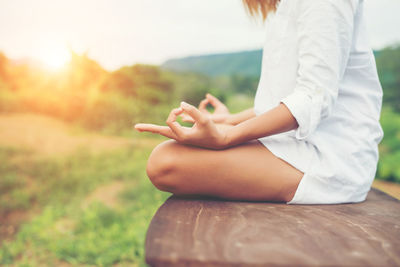
[[[150,181],[161,191],[174,192],[176,183],[176,142],[166,141],[154,148],[147,161],[146,172]]]

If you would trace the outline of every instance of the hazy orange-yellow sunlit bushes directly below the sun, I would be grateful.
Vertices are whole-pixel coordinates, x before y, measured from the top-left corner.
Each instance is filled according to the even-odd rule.
[[[65,69],[52,73],[0,55],[0,112],[43,113],[117,133],[134,120],[165,120],[173,83],[164,76],[158,67],[146,65],[109,73],[77,54]]]

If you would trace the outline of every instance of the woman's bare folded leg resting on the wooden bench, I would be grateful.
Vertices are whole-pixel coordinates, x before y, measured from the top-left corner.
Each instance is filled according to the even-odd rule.
[[[225,150],[166,141],[150,155],[147,174],[157,188],[177,195],[285,202],[303,177],[258,141]]]

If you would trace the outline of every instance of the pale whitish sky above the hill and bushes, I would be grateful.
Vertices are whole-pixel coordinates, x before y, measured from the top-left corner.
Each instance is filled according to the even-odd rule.
[[[364,0],[374,49],[400,42],[400,0]],[[104,68],[259,49],[241,0],[0,0],[0,51],[53,63],[69,49]]]

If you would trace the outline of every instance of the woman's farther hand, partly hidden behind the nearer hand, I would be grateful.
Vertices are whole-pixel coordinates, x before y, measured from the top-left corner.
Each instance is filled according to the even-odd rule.
[[[208,104],[214,107],[213,113],[208,112]],[[211,94],[206,94],[206,98],[203,99],[199,104],[199,110],[215,123],[227,123],[227,120],[230,116],[228,108],[221,101],[219,101],[218,98]],[[193,118],[189,114],[182,113],[180,116],[183,121],[194,123]]]

